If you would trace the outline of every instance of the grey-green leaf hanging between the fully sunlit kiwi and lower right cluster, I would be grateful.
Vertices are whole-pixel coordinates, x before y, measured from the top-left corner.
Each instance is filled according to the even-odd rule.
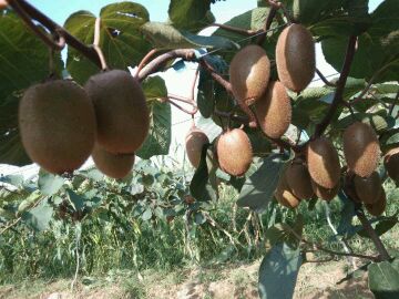
[[[268,203],[273,199],[278,177],[285,167],[284,156],[272,154],[264,159],[262,166],[249,177],[247,177],[237,205],[249,207],[257,213],[266,209]]]

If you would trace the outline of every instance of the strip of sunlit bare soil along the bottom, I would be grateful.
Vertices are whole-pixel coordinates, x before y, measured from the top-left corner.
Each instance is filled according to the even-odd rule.
[[[0,299],[255,299],[258,298],[258,267],[259,261],[183,271],[144,271],[141,275],[119,271],[101,279],[81,278],[74,291],[70,290],[71,280],[25,281],[0,287]],[[337,283],[346,277],[347,268],[345,260],[305,264],[300,268],[294,298],[374,298],[367,288],[366,276]]]

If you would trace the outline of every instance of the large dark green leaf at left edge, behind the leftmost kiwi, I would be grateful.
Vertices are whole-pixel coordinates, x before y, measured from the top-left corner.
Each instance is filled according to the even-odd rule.
[[[0,14],[0,164],[30,164],[18,131],[23,90],[49,76],[49,50],[13,12]],[[61,55],[54,56],[61,69]]]

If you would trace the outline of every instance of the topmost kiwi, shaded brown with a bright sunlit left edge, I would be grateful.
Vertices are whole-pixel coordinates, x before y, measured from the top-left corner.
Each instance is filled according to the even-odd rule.
[[[301,24],[283,30],[276,45],[276,64],[278,78],[287,89],[306,89],[316,71],[315,42],[309,30]]]

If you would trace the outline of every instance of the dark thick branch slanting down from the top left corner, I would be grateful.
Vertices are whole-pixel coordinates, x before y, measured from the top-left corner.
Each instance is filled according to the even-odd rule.
[[[79,41],[76,38],[71,35],[64,28],[55,23],[49,17],[47,17],[41,11],[35,9],[33,6],[28,3],[25,0],[8,0],[8,2],[10,6],[12,6],[12,3],[14,2],[18,2],[18,4],[24,10],[24,12],[27,12],[27,14],[31,19],[37,20],[39,23],[45,27],[50,32],[58,34],[59,37],[62,37],[65,43],[68,43],[70,47],[72,47],[81,54],[83,54],[85,58],[91,60],[99,68],[101,68],[100,58],[92,47],[88,47],[81,41]]]

